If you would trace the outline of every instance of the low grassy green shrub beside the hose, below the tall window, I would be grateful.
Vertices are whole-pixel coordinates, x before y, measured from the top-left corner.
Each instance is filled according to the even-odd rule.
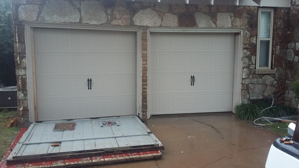
[[[235,116],[238,119],[255,120],[260,117],[280,118],[290,115],[297,115],[297,109],[289,106],[277,105],[276,107],[264,110],[270,106],[271,103],[268,102],[237,104],[234,108]],[[261,111],[263,111],[262,114]]]

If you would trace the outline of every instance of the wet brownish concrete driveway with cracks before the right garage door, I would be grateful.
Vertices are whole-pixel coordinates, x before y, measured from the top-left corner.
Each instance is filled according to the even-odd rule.
[[[145,124],[164,144],[161,159],[99,167],[264,168],[278,137],[233,113],[153,116]]]

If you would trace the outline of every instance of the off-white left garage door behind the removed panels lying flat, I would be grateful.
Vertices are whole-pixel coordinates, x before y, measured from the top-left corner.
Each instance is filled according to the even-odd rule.
[[[39,121],[135,114],[135,32],[37,28],[34,53]]]

